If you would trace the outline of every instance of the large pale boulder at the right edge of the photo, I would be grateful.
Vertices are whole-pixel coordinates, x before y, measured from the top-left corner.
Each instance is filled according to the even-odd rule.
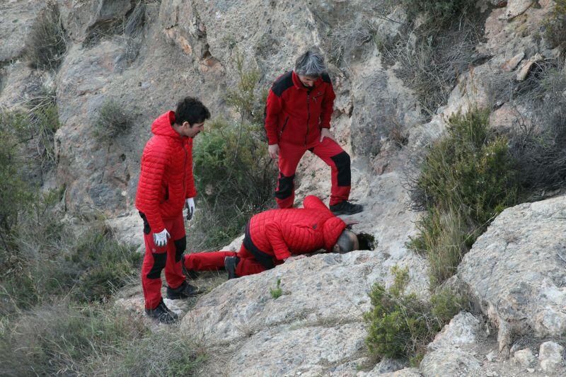
[[[499,328],[499,349],[512,335],[566,330],[566,197],[520,204],[497,216],[458,267],[483,313]]]

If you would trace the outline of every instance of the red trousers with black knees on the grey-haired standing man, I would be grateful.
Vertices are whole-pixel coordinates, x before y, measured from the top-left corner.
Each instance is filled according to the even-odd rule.
[[[350,196],[351,172],[350,155],[333,139],[325,137],[306,146],[279,143],[279,180],[275,201],[279,208],[291,208],[295,199],[294,178],[296,166],[306,151],[320,157],[332,170],[330,205],[347,200]]]

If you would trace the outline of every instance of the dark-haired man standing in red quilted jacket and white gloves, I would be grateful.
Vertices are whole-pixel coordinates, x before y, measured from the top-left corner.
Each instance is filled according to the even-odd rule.
[[[198,293],[186,282],[180,262],[187,245],[183,207],[190,219],[197,195],[192,177],[192,139],[209,118],[210,112],[200,100],[184,98],[174,112],[160,115],[151,124],[153,136],[141,156],[136,195],[146,245],[141,285],[147,315],[161,323],[177,319],[161,297],[163,268],[168,298],[187,298]]]

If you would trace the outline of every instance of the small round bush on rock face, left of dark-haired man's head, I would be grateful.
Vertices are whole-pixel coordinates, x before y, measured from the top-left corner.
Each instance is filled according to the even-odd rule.
[[[106,100],[98,110],[94,123],[94,135],[101,141],[112,141],[125,134],[132,127],[132,121],[124,108],[115,100]]]

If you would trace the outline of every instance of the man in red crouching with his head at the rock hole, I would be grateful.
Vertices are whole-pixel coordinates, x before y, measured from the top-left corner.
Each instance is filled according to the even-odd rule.
[[[192,253],[183,256],[185,274],[225,268],[229,279],[258,274],[320,249],[345,253],[359,248],[357,236],[346,229],[354,221],[335,216],[313,195],[304,208],[270,209],[252,216],[240,251]]]

